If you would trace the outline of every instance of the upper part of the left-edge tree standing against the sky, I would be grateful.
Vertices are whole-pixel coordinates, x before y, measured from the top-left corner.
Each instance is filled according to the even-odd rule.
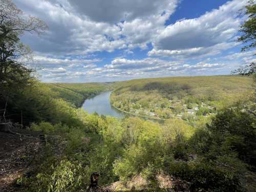
[[[46,29],[44,22],[24,14],[11,0],[0,0],[0,94],[29,83],[33,70],[26,61],[32,59],[32,51],[20,42],[20,36],[25,32],[40,34]]]

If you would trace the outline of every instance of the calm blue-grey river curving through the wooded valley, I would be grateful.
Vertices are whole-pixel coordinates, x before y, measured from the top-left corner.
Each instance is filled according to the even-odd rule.
[[[110,115],[117,118],[122,118],[124,115],[113,108],[110,104],[111,91],[101,93],[93,98],[86,99],[82,108],[89,114],[96,112],[99,115]]]

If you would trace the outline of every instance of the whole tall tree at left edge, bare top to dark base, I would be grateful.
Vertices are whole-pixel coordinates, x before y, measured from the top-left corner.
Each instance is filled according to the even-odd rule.
[[[26,95],[28,89],[37,83],[31,73],[34,70],[29,67],[33,59],[32,51],[22,44],[20,37],[25,32],[40,34],[46,29],[44,22],[25,15],[11,0],[0,0],[0,109],[4,109],[8,101],[6,115],[22,114],[28,109],[27,106],[21,107],[25,105],[24,98],[31,106],[35,105],[33,111],[39,109],[30,100],[33,93]],[[45,106],[42,108],[45,109]],[[12,118],[15,119],[14,116]]]

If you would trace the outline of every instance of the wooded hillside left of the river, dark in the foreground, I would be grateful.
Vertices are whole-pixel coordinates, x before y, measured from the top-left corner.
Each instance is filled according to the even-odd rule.
[[[0,99],[0,108],[6,108],[7,119],[24,126],[42,120],[59,122],[57,109],[76,109],[86,98],[109,89],[109,83],[42,83],[31,79],[22,89],[5,88],[8,95]]]

